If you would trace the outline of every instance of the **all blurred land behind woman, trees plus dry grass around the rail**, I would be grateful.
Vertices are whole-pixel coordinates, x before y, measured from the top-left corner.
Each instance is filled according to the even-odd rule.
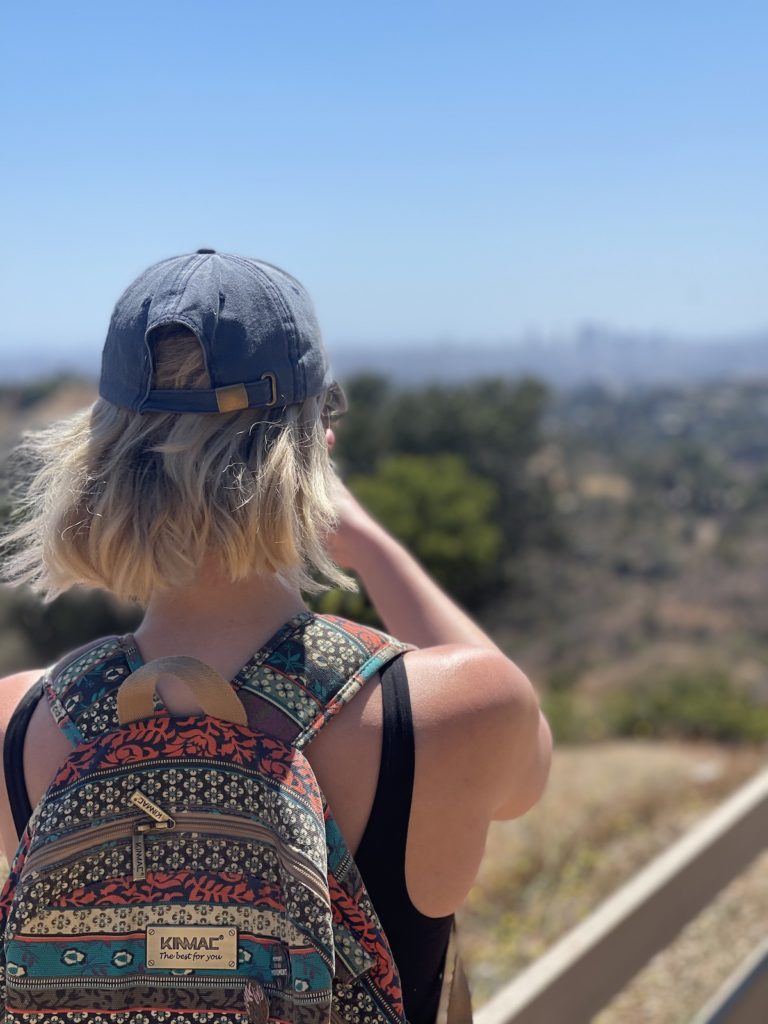
[[[559,741],[546,798],[494,824],[461,913],[480,1005],[765,762],[768,382],[346,386],[340,472],[537,682]],[[0,515],[19,434],[93,397],[74,378],[0,389]],[[317,606],[376,622],[364,594]],[[0,587],[0,673],[139,618],[96,592]],[[689,1019],[764,934],[766,866],[599,1024]]]

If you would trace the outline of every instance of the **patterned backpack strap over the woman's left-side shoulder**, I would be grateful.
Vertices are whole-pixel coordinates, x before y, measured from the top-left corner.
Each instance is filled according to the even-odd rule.
[[[118,725],[118,687],[141,659],[129,637],[104,637],[67,654],[43,677],[56,725],[74,743]]]

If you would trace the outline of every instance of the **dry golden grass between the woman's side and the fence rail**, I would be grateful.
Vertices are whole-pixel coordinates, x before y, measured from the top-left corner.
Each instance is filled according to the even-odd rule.
[[[541,955],[764,761],[765,752],[714,744],[561,748],[541,804],[519,821],[492,827],[480,876],[462,911],[475,1004]],[[646,1019],[656,1021],[621,1016],[601,1024]],[[684,1018],[669,1018],[678,1019]]]

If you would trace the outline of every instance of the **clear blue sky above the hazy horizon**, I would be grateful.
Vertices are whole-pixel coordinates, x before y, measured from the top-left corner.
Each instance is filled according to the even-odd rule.
[[[768,325],[768,5],[48,0],[0,26],[0,350],[145,265],[284,265],[333,344]]]

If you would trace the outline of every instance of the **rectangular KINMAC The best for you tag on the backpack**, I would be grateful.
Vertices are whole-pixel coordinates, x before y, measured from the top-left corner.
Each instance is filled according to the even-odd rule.
[[[238,970],[238,929],[158,926],[146,929],[151,971]]]

